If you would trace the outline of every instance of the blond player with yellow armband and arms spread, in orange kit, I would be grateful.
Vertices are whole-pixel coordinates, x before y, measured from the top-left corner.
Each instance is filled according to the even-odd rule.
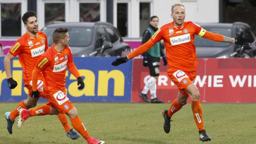
[[[211,140],[211,137],[206,133],[203,125],[202,106],[200,105],[200,94],[196,85],[193,84],[197,75],[197,56],[194,46],[195,34],[199,37],[211,39],[213,41],[221,41],[235,44],[248,44],[250,39],[244,39],[242,34],[237,38],[225,37],[220,34],[208,32],[194,22],[184,22],[185,7],[180,3],[172,5],[173,22],[165,24],[143,45],[139,46],[135,51],[128,54],[126,57],[121,57],[113,61],[113,66],[118,66],[132,59],[135,56],[143,54],[150,49],[155,43],[164,40],[167,62],[169,69],[168,76],[172,82],[178,87],[178,97],[172,102],[169,110],[164,110],[164,130],[170,132],[170,122],[172,115],[180,110],[187,103],[187,98],[192,99],[192,112],[194,121],[199,130],[199,139],[204,141]]]

